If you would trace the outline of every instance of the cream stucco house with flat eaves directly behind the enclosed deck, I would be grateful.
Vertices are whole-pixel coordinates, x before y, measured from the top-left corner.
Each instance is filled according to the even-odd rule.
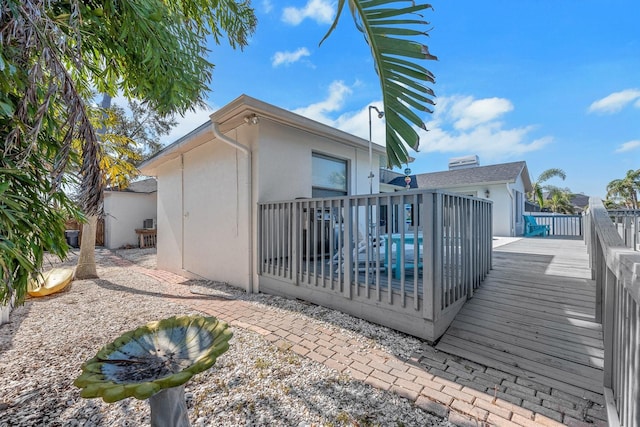
[[[256,291],[257,203],[367,194],[373,152],[370,165],[367,140],[240,96],[139,167],[158,179],[158,268]]]

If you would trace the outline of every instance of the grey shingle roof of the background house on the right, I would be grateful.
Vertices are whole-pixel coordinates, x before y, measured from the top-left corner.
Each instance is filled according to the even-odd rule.
[[[411,175],[410,186],[411,188],[437,189],[480,184],[511,184],[515,183],[519,176],[522,176],[525,191],[531,191],[529,170],[524,161]],[[406,186],[404,177],[395,178],[389,184]]]

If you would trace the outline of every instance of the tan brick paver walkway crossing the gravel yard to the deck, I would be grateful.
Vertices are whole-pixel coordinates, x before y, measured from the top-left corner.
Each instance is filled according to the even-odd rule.
[[[471,362],[424,344],[419,354],[400,359],[372,350],[334,330],[283,315],[268,306],[220,297],[194,298],[188,279],[147,269],[114,255],[118,265],[135,269],[167,285],[167,298],[230,325],[260,334],[279,348],[290,349],[373,387],[390,390],[422,409],[460,426],[605,426],[602,401],[586,401],[553,391],[528,409],[525,397],[544,394],[544,385]],[[530,399],[531,400],[531,399]],[[545,403],[546,402],[546,403]],[[543,406],[543,404],[545,406]],[[571,409],[571,410],[569,410]]]

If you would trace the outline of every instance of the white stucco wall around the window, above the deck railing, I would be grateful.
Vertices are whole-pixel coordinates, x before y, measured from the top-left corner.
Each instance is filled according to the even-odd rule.
[[[369,192],[368,149],[355,148],[295,128],[267,120],[260,122],[257,168],[260,202],[311,197],[311,156],[320,153],[348,161],[349,194]],[[255,155],[255,154],[254,154]],[[373,170],[378,170],[379,156],[373,156]],[[376,177],[377,178],[377,177]],[[374,192],[378,191],[374,179]]]

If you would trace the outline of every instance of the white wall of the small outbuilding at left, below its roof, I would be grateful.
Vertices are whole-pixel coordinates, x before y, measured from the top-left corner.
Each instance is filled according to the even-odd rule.
[[[126,245],[138,246],[136,228],[142,228],[145,219],[156,218],[157,193],[104,193],[105,236],[109,249]]]

